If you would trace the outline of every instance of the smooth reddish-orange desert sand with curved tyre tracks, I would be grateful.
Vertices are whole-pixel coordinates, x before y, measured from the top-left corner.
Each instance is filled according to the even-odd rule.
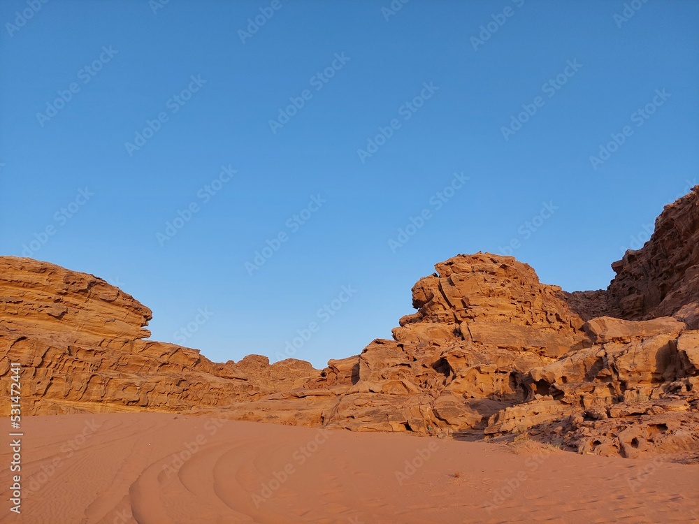
[[[658,459],[173,414],[22,432],[22,514],[6,444],[2,523],[699,522],[699,465]]]

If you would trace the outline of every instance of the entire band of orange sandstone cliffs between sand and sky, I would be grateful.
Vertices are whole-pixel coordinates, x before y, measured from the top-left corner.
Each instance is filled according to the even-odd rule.
[[[606,291],[565,293],[509,256],[455,256],[415,284],[417,312],[393,340],[322,371],[262,356],[215,364],[144,340],[151,312],[131,296],[91,275],[0,257],[0,377],[8,360],[24,364],[25,414],[216,412],[698,458],[698,237],[696,187],[612,265]]]

